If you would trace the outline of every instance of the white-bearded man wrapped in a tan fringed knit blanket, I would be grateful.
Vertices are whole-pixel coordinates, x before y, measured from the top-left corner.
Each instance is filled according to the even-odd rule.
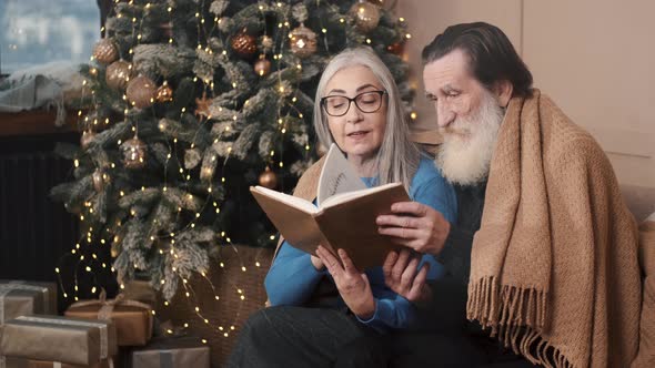
[[[456,184],[460,215],[449,223],[421,204],[396,203],[377,218],[382,234],[447,269],[429,287],[409,252],[387,258],[386,284],[433,313],[435,327],[380,350],[403,367],[629,366],[637,231],[601,147],[532,89],[494,25],[447,28],[423,62],[444,137],[435,164]]]

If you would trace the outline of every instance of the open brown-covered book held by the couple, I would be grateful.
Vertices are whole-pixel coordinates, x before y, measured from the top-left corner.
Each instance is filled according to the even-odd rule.
[[[399,248],[377,233],[375,218],[391,213],[393,203],[410,201],[402,183],[367,188],[334,144],[319,178],[318,207],[262,186],[250,191],[291,245],[313,255],[319,244],[335,256],[343,248],[360,270],[381,266]]]

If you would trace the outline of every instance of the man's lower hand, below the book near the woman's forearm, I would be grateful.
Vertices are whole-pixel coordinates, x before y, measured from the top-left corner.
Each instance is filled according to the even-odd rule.
[[[389,253],[382,265],[384,283],[407,300],[419,306],[427,305],[432,299],[432,289],[425,284],[430,264],[424,264],[417,270],[421,255],[412,253],[410,249],[402,249],[400,254]]]

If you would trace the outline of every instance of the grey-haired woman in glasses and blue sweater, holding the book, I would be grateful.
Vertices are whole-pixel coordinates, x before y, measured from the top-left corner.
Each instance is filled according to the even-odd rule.
[[[397,86],[372,50],[346,50],[330,61],[316,90],[314,126],[321,144],[336,143],[367,186],[402,182],[413,201],[456,218],[454,190],[410,141]],[[321,167],[319,161],[305,172],[294,195],[313,198]],[[318,245],[316,254],[282,242],[265,279],[271,307],[248,320],[230,367],[341,366],[340,352],[350,343],[425,324],[412,303],[385,285],[382,267],[360,273],[343,249],[333,255]],[[405,251],[391,254],[387,264],[407,265],[385,272],[415,285],[443,269],[434,257]]]

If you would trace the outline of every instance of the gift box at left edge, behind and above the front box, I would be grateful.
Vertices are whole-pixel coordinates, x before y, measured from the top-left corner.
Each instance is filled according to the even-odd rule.
[[[0,280],[0,325],[33,314],[57,314],[57,284]]]

